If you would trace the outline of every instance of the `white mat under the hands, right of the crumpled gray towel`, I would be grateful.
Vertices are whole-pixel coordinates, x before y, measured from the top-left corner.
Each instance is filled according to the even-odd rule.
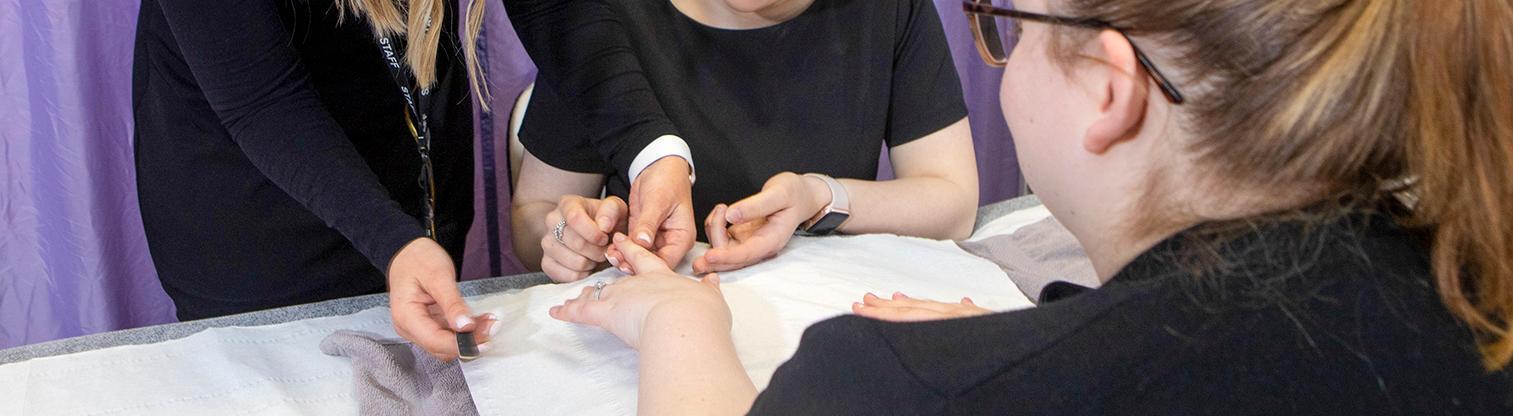
[[[687,265],[681,272],[688,272]],[[584,286],[620,275],[611,269],[573,284],[475,301],[480,312],[517,316],[504,319],[492,351],[463,365],[480,413],[634,414],[635,351],[602,330],[546,315]],[[994,263],[952,242],[897,236],[794,237],[778,259],[723,272],[720,280],[734,316],[735,349],[758,389],[793,355],[805,328],[850,313],[850,304],[867,292],[902,290],[943,301],[971,296],[994,310],[1030,307]]]

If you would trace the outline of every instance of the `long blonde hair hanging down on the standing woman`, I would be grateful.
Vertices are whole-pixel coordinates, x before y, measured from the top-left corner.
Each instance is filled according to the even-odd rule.
[[[446,21],[448,0],[336,0],[342,18],[346,12],[368,20],[374,36],[404,36],[404,65],[415,74],[421,88],[436,85],[436,54],[440,51],[442,27]],[[486,2],[469,0],[463,24],[463,59],[474,95],[484,110],[489,110],[489,82],[483,79],[478,64],[478,33],[483,30]],[[419,30],[415,30],[419,29]]]

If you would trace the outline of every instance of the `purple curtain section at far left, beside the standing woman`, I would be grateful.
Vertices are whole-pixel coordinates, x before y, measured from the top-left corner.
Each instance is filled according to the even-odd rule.
[[[136,8],[0,0],[0,348],[174,319],[132,172]]]

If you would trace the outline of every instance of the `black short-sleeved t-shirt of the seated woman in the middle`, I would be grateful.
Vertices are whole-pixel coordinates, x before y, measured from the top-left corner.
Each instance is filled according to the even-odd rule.
[[[788,21],[752,30],[704,26],[666,0],[611,8],[693,153],[699,219],[784,171],[876,179],[885,144],[967,116],[940,17],[926,0],[817,0]],[[610,194],[625,197],[629,183],[601,156],[610,153],[595,148],[584,107],[537,83],[520,141],[552,166],[611,175]]]

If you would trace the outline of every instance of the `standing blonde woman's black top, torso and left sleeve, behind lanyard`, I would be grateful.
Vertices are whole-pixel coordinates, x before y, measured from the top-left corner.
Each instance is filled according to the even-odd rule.
[[[437,241],[472,221],[472,106],[448,6]],[[381,292],[424,236],[421,159],[368,23],[330,0],[144,0],[133,62],[148,248],[182,319]]]

